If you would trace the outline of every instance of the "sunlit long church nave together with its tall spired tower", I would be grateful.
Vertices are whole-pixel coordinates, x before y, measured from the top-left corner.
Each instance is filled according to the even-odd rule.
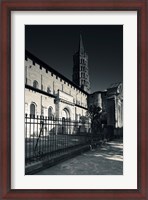
[[[79,120],[90,90],[88,57],[82,38],[74,55],[73,81],[25,51],[25,113]]]

